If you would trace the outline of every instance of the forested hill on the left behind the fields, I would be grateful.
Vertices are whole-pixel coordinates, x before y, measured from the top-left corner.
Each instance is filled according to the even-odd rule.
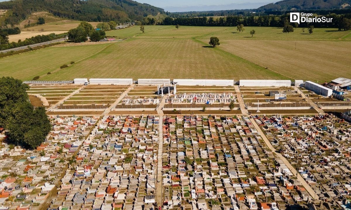
[[[165,13],[164,9],[132,0],[12,0],[0,2],[0,9],[10,10],[1,22],[11,25],[41,11],[62,18],[104,22],[142,20],[150,14]]]

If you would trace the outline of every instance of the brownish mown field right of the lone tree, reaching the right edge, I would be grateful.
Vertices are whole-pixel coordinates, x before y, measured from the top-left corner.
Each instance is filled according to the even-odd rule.
[[[292,79],[324,82],[351,77],[351,41],[223,40],[220,48]]]

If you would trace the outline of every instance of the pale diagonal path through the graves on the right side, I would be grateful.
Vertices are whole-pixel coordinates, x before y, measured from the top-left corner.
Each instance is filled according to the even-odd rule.
[[[258,133],[260,134],[260,136],[262,137],[262,139],[264,140],[264,142],[267,144],[267,147],[272,149],[273,146],[271,144],[271,142],[268,140],[268,138],[266,137],[266,135],[263,133],[263,131],[261,130],[261,128],[258,126],[258,124],[256,123],[256,121],[251,118],[250,119],[253,126],[256,128],[256,130],[258,131]],[[289,170],[292,172],[293,175],[296,175],[296,169],[290,164],[290,162],[288,160],[286,160],[286,158],[280,154],[280,153],[276,153],[273,149],[272,153],[276,156],[278,156],[278,158],[280,158],[281,160],[283,160],[283,162],[285,163],[285,165],[289,168]],[[309,192],[309,194],[311,195],[311,197],[313,199],[319,199],[318,195],[316,195],[316,192],[311,188],[311,186],[305,181],[305,179],[300,175],[300,173],[298,173],[297,175],[297,179],[299,180],[299,182],[304,186],[304,188],[307,190],[307,192]]]

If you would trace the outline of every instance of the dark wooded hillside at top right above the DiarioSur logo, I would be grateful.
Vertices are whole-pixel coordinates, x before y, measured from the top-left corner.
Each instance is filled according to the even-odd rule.
[[[351,4],[351,0],[283,0],[267,4],[259,11],[292,10],[292,9],[338,9]]]

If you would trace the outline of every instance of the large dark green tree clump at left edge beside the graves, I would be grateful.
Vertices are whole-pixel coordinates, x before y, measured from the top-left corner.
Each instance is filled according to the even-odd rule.
[[[45,141],[51,124],[44,107],[34,108],[29,102],[27,84],[13,77],[1,77],[0,127],[8,131],[8,141],[29,149]]]

